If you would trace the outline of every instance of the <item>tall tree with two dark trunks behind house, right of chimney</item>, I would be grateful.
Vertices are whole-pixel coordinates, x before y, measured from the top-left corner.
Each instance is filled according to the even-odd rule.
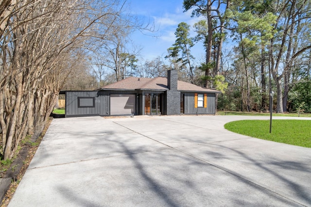
[[[203,42],[206,52],[206,62],[204,67],[205,76],[214,77],[220,75],[222,48],[225,40],[225,24],[228,20],[227,10],[229,2],[225,0],[184,0],[183,7],[185,11],[192,9],[193,16],[204,16],[206,20],[201,20],[194,24],[197,36],[194,41]],[[209,66],[215,63],[213,68]],[[210,82],[206,79],[205,85],[209,87]]]

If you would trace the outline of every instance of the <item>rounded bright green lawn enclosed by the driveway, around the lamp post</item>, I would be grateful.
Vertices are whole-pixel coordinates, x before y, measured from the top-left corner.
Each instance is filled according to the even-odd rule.
[[[225,128],[243,135],[278,143],[311,147],[311,120],[242,120],[225,124]]]

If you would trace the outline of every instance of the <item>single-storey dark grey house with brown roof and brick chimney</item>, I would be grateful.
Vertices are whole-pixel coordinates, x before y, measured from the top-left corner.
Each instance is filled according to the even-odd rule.
[[[104,86],[97,91],[65,91],[65,117],[215,114],[216,94],[177,80],[177,70],[168,77],[137,78]]]

